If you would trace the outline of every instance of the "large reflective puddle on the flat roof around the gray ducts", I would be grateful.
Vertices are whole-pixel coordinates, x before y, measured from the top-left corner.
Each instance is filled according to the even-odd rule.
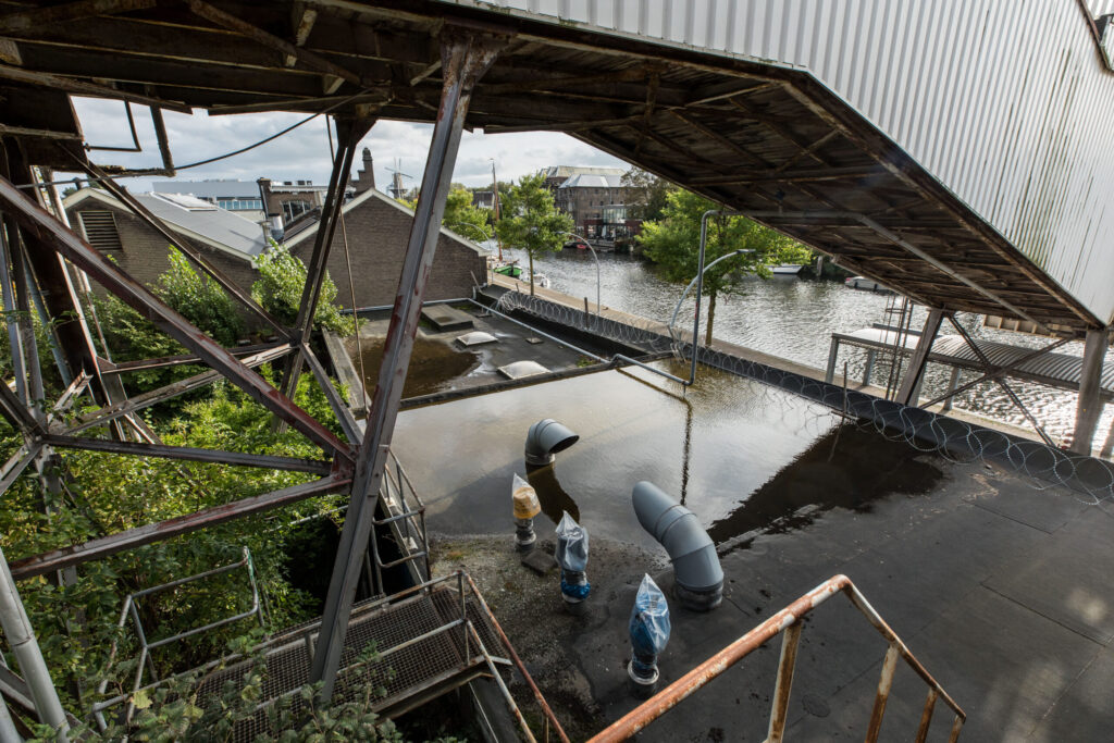
[[[423,495],[431,530],[508,539],[512,472],[538,491],[539,536],[568,511],[593,535],[646,546],[653,539],[631,508],[638,480],[676,497],[723,544],[800,527],[831,507],[867,510],[941,476],[912,448],[747,379],[702,368],[686,398],[663,389],[676,385],[642,370],[604,371],[409,410],[392,448]],[[580,440],[527,472],[526,431],[543,418]]]

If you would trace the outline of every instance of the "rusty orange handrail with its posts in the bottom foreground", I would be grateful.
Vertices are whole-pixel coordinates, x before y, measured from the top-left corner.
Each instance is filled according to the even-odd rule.
[[[719,653],[707,658],[698,666],[686,673],[684,676],[673,682],[661,692],[632,710],[623,718],[616,721],[590,740],[589,743],[609,743],[625,741],[654,720],[672,710],[682,700],[687,698],[698,688],[710,681],[724,673],[727,668],[739,663],[753,651],[776,637],[782,632],[800,627],[801,619],[817,608],[834,594],[844,593],[870,624],[889,643],[886,654],[886,662],[882,664],[882,674],[879,680],[878,695],[874,700],[874,708],[871,714],[870,727],[867,735],[868,743],[877,739],[881,727],[882,713],[886,710],[886,701],[889,695],[890,683],[893,680],[893,669],[898,657],[905,659],[912,671],[929,685],[928,698],[925,703],[925,712],[921,717],[920,729],[917,733],[917,741],[924,741],[928,734],[928,726],[931,722],[932,707],[937,698],[944,700],[952,712],[956,720],[951,726],[949,741],[952,743],[959,737],[967,715],[962,708],[956,704],[944,687],[932,677],[925,666],[913,657],[905,643],[890,629],[889,625],[879,616],[878,612],[870,605],[866,597],[859,593],[851,579],[846,575],[837,575],[820,584],[804,596],[778,612],[769,619],[751,629],[749,633],[731,643]],[[778,690],[774,694],[774,713],[771,715],[770,741],[780,741],[784,732],[784,707],[789,701],[789,691],[792,683],[793,661],[797,653],[797,638],[800,632],[794,629],[786,633],[785,645],[782,648],[782,663],[778,673]],[[786,658],[789,661],[786,662]],[[780,713],[780,714],[779,714]]]

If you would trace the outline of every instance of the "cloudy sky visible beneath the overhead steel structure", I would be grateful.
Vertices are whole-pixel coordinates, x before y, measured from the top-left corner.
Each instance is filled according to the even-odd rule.
[[[86,141],[90,145],[128,146],[127,117],[124,104],[92,98],[75,98]],[[97,151],[94,162],[129,167],[157,167],[158,146],[147,110],[134,107],[136,128],[144,151],[138,154]],[[208,116],[196,111],[193,116],[164,113],[170,151],[175,165],[182,166],[215,155],[233,151],[263,139],[305,118],[304,114],[244,114],[238,116]],[[375,163],[375,184],[384,188],[390,182],[388,168],[412,176],[408,186],[421,178],[429,149],[432,126],[404,121],[379,121],[363,139],[361,147],[371,149]],[[500,180],[517,179],[548,165],[599,165],[626,167],[617,159],[589,147],[571,137],[556,133],[497,134],[465,131],[457,156],[453,180],[467,186],[491,182],[491,158],[495,159]],[[352,175],[359,168],[359,156]],[[206,178],[238,178],[255,180],[268,177],[275,180],[312,179],[315,184],[329,182],[331,162],[325,117],[321,116],[274,141],[251,151],[211,165],[180,170],[176,180]],[[125,182],[135,192],[150,190],[150,178],[131,178]]]

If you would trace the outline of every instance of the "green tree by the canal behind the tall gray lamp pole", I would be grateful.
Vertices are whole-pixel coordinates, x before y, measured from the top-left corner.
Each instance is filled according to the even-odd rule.
[[[638,242],[645,255],[670,281],[690,282],[696,277],[701,217],[715,208],[720,208],[717,204],[678,188],[670,193],[662,218],[643,224]],[[768,266],[780,263],[781,253],[792,245],[797,243],[791,238],[746,217],[714,216],[709,219],[705,265],[732,251],[753,253],[743,253],[705,272],[704,295],[709,300],[705,343],[712,342],[719,296],[739,293],[750,274],[768,277]]]

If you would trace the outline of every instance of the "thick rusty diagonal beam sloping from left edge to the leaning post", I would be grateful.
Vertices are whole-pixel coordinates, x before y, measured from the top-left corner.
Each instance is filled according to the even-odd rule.
[[[209,366],[219,371],[253,400],[281,420],[290,423],[296,431],[325,451],[345,459],[351,458],[349,448],[332,431],[289,398],[282,395],[266,380],[244,365],[219,343],[168,307],[146,286],[124,273],[119,266],[101,255],[95,247],[62,227],[53,217],[3,178],[0,178],[0,204],[11,211],[21,228],[36,235],[46,245],[57,251],[59,255],[63,255],[88,273],[105,289],[155,323],[167,335],[196,353]]]

